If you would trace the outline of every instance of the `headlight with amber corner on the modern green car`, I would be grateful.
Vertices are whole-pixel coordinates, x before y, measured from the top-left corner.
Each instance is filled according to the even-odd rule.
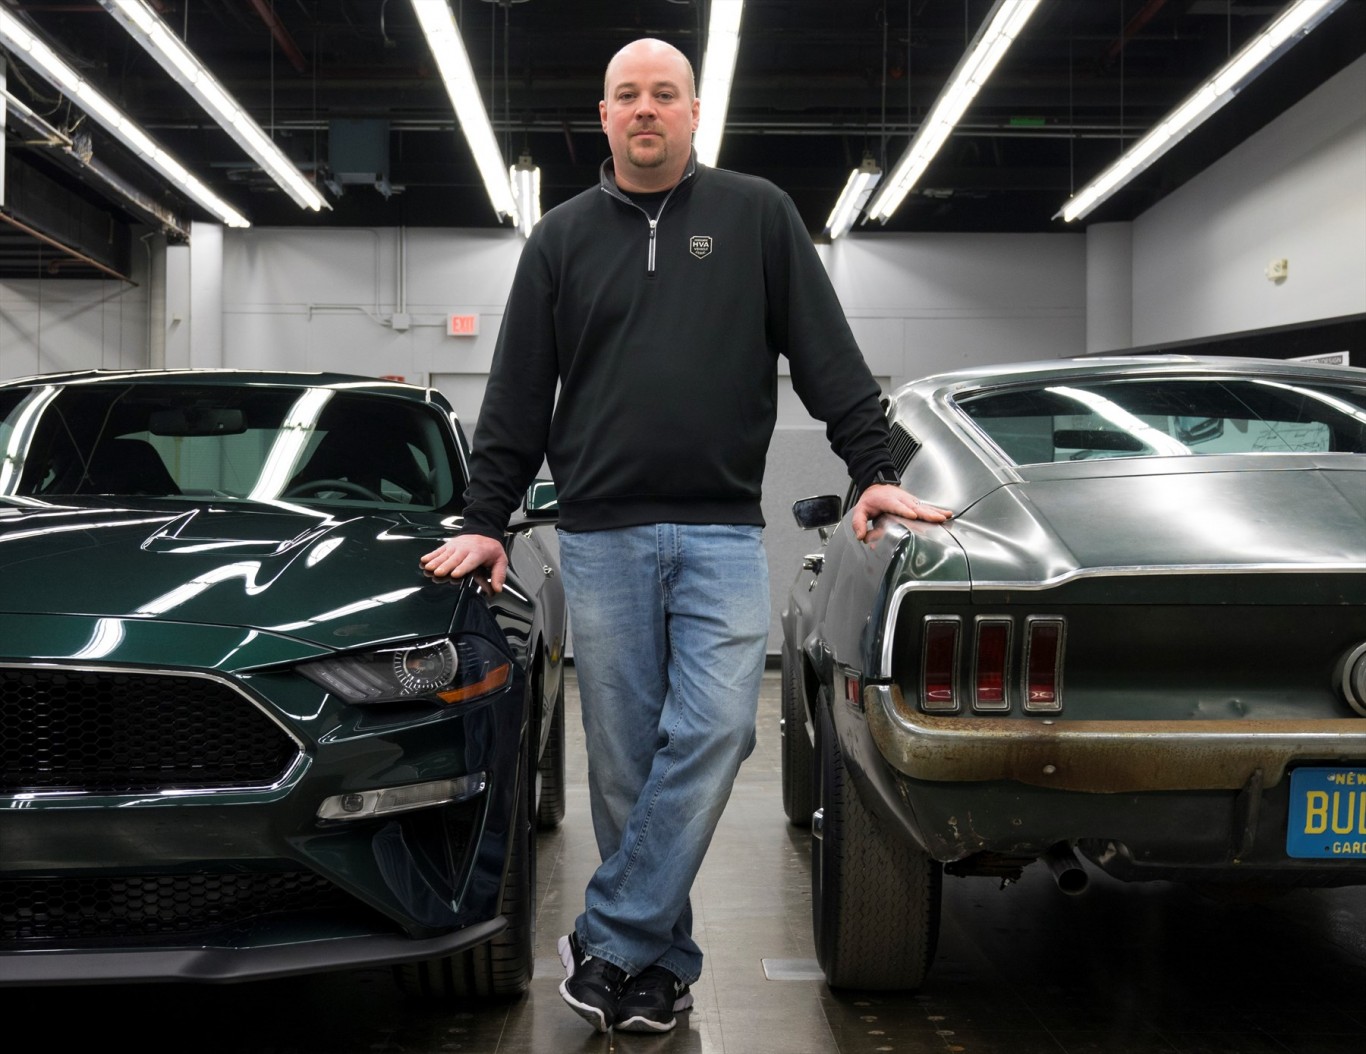
[[[348,703],[469,703],[504,688],[512,662],[481,636],[459,636],[318,659],[299,672]]]

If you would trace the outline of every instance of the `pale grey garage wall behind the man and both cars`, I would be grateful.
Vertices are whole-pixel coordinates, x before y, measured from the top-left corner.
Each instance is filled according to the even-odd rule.
[[[1131,326],[1130,344],[1366,311],[1366,60],[1131,227],[1131,239],[1109,229],[1094,244],[1086,233],[855,232],[820,251],[885,390],[959,366],[1082,354],[1089,311],[1113,315],[1090,325],[1111,343]],[[209,254],[158,242],[135,258],[137,285],[0,283],[0,377],[163,362],[392,374],[440,388],[475,421],[515,233],[251,228],[224,231]],[[1130,242],[1132,259],[1116,264],[1131,265],[1124,304],[1123,280],[1089,276],[1087,251]],[[1277,257],[1290,276],[1272,283]],[[214,272],[221,281],[195,279]],[[478,315],[478,333],[447,336],[452,313]],[[765,481],[775,649],[781,598],[818,546],[792,524],[791,501],[843,489],[822,427],[784,377]]]

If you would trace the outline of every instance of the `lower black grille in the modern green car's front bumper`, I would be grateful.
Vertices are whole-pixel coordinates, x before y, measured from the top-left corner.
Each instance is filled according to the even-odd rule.
[[[374,924],[359,901],[311,871],[0,879],[0,946],[11,948],[208,934],[232,942],[264,919],[301,915]]]

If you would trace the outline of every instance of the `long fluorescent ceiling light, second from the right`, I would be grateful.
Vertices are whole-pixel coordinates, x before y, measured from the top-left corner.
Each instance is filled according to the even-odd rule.
[[[892,173],[882,183],[873,203],[867,209],[869,220],[887,223],[892,213],[911,193],[917,180],[925,175],[934,154],[948,141],[958,122],[986,83],[997,63],[1005,56],[1015,38],[1029,22],[1038,0],[996,0],[996,5],[982,19],[977,35],[967,52],[953,67],[944,90],[921,123],[915,137],[906,147]]]

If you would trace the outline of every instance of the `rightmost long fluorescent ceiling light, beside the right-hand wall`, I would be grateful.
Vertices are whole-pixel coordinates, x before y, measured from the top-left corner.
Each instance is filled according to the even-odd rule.
[[[1076,191],[1053,218],[1061,216],[1067,223],[1081,220],[1186,138],[1343,3],[1344,0],[1298,0],[1287,7],[1176,109],[1120,154],[1115,164]]]

